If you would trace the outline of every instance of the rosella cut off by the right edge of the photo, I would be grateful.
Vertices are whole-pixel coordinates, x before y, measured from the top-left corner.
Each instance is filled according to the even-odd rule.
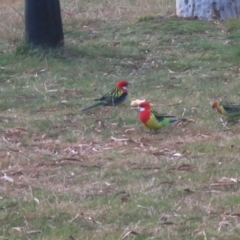
[[[240,105],[232,102],[215,101],[212,108],[229,118],[240,117]]]

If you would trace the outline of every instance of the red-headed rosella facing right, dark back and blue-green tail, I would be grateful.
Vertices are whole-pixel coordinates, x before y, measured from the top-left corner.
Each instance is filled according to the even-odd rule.
[[[116,83],[116,87],[103,95],[101,98],[94,99],[97,101],[95,104],[90,105],[82,109],[86,111],[88,109],[98,106],[116,106],[125,101],[128,95],[128,82],[126,80],[120,80]]]

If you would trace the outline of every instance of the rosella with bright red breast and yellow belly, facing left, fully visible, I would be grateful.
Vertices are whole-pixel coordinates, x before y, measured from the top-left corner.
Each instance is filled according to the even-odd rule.
[[[171,123],[186,121],[186,118],[171,118],[165,114],[158,114],[151,108],[149,102],[142,102],[138,105],[139,119],[150,130],[158,130]]]

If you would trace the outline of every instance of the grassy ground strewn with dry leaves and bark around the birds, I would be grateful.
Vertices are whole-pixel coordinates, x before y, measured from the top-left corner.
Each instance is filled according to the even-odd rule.
[[[65,46],[43,50],[24,43],[23,3],[0,3],[0,239],[239,239],[240,131],[210,107],[239,101],[239,19],[61,4]],[[125,106],[81,112],[121,78]],[[194,122],[151,135],[137,98]]]

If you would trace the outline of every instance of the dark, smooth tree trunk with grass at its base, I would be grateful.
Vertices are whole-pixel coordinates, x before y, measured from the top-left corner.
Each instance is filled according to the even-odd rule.
[[[25,38],[34,46],[63,45],[59,0],[25,0]]]

